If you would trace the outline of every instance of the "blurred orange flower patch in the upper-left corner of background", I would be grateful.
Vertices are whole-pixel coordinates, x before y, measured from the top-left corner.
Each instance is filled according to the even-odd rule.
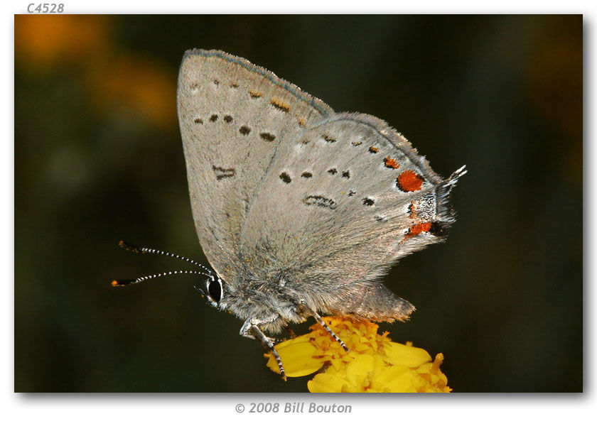
[[[18,15],[15,60],[37,75],[82,73],[90,107],[102,118],[137,116],[149,126],[176,123],[176,70],[123,52],[112,42],[112,16]]]

